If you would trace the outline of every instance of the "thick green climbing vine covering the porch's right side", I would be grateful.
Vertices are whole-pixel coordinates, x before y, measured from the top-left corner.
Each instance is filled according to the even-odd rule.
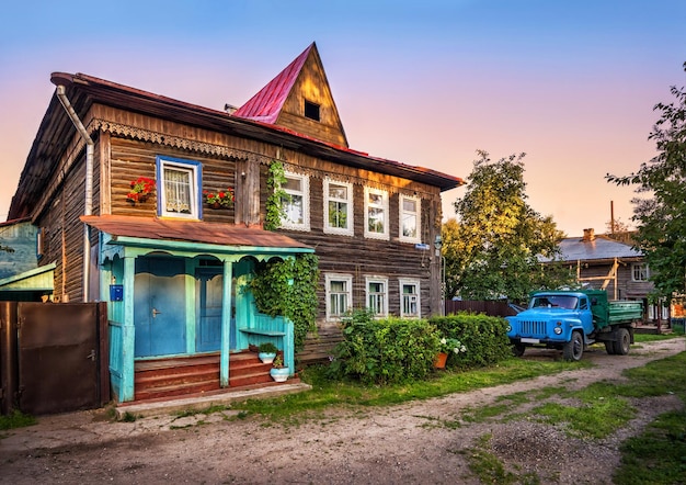
[[[250,282],[260,312],[293,320],[296,351],[307,332],[317,330],[318,283],[319,258],[311,253],[261,262]]]

